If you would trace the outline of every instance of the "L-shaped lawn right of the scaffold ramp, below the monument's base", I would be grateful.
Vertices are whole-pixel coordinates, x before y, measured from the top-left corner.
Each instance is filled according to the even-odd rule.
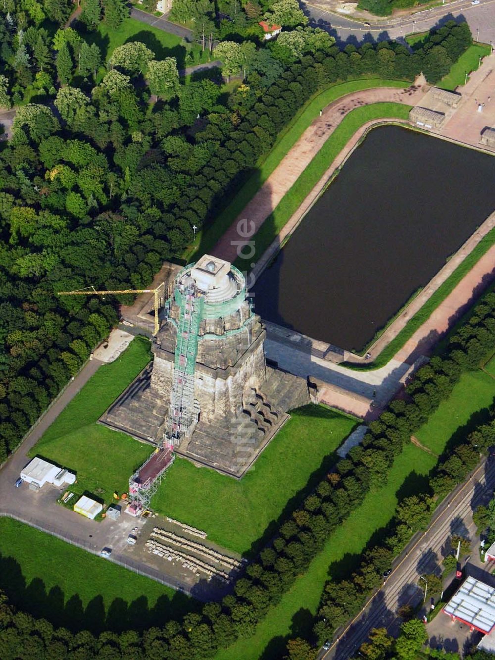
[[[354,418],[322,406],[300,408],[240,481],[177,459],[152,507],[249,554],[333,465],[335,449],[355,425]]]

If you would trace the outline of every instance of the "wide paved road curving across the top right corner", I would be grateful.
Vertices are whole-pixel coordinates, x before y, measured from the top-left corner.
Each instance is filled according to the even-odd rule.
[[[364,22],[352,20],[345,15],[325,9],[325,5],[304,3],[310,16],[310,25],[327,30],[335,36],[337,42],[356,44],[362,41],[403,40],[407,34],[422,32],[444,24],[447,20],[467,20],[473,37],[477,41],[495,43],[495,0],[480,0],[479,5],[472,5],[471,0],[454,2],[418,11],[399,18],[377,18],[370,27]]]

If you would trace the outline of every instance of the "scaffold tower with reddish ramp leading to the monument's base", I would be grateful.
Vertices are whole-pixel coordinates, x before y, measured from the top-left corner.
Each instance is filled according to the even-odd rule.
[[[135,471],[129,479],[129,504],[126,513],[140,515],[149,508],[152,496],[174,459],[172,449],[160,447]]]

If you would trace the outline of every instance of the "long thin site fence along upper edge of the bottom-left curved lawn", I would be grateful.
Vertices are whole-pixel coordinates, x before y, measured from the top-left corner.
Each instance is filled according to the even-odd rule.
[[[72,534],[64,532],[60,529],[56,529],[55,527],[51,527],[50,525],[40,525],[34,519],[30,519],[22,515],[16,515],[16,513],[0,512],[0,517],[13,518],[20,523],[24,523],[25,525],[34,527],[39,531],[57,537],[57,539],[61,539],[61,541],[65,541],[65,543],[70,543],[71,545],[74,545],[77,548],[81,548],[82,550],[86,550],[87,552],[91,552],[92,554],[96,554],[98,556],[100,554],[100,551],[102,550],[102,548],[95,548],[94,544],[91,543],[90,541],[82,541],[82,539],[79,539],[79,537],[75,537]],[[102,561],[113,562],[118,566],[127,568],[127,570],[132,571],[133,573],[137,573],[138,575],[144,576],[145,578],[154,579],[154,581],[160,582],[160,584],[166,587],[170,587],[170,589],[174,589],[175,591],[180,591],[180,593],[185,593],[188,596],[191,596],[199,601],[203,601],[204,603],[211,601],[211,597],[206,597],[205,595],[202,595],[201,592],[199,592],[198,589],[194,589],[193,586],[187,585],[181,582],[180,580],[176,580],[172,578],[172,576],[167,576],[165,578],[164,575],[160,573],[160,571],[155,570],[151,566],[149,567],[147,566],[145,568],[138,562],[133,561],[131,558],[121,559],[112,556],[112,554],[110,554],[109,557],[102,558]],[[193,593],[193,591],[195,591],[195,593]]]

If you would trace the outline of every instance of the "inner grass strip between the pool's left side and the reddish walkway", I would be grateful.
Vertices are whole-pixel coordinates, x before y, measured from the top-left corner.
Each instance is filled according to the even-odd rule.
[[[257,261],[265,249],[271,245],[292,214],[296,213],[304,199],[325,174],[333,160],[347,145],[352,135],[364,123],[382,117],[407,119],[410,110],[411,106],[401,103],[374,103],[370,106],[355,108],[349,112],[317,152],[306,170],[302,172],[296,183],[282,197],[273,213],[268,216],[256,232],[253,239],[255,244],[253,261]]]

